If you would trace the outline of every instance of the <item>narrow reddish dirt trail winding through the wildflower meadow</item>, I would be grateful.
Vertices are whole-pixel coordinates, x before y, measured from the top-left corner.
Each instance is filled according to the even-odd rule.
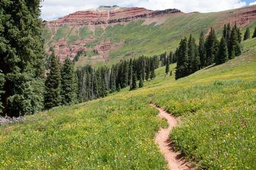
[[[151,104],[152,107],[157,108],[156,105]],[[172,141],[169,139],[169,134],[172,128],[177,126],[178,119],[165,112],[162,108],[158,108],[160,118],[164,118],[168,122],[168,128],[160,129],[156,134],[155,142],[168,162],[168,168],[171,170],[185,170],[194,169],[191,163],[188,163],[183,155],[173,150]]]

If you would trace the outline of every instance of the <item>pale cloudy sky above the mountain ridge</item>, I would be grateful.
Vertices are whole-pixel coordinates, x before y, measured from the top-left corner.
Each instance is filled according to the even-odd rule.
[[[185,13],[193,11],[206,13],[256,5],[256,0],[44,0],[41,5],[42,19],[51,20],[100,5],[146,7],[152,10],[177,8]]]

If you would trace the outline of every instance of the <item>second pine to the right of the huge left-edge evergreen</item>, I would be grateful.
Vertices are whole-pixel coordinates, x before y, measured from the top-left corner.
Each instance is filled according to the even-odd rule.
[[[73,63],[69,58],[65,58],[61,69],[61,103],[69,105],[76,103],[75,75],[73,71]]]

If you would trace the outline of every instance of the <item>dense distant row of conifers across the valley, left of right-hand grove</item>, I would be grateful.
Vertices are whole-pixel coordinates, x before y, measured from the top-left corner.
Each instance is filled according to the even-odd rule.
[[[154,79],[158,68],[158,56],[140,56],[130,60],[121,60],[112,67],[93,69],[90,65],[76,71],[77,96],[79,102],[105,97],[108,93],[130,87],[135,90],[143,87],[143,82]],[[139,85],[137,85],[139,80]]]

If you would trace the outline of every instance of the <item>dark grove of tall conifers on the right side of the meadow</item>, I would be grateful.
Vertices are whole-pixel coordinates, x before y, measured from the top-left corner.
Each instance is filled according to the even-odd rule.
[[[245,33],[245,37],[247,37],[247,34],[248,31]],[[199,69],[214,63],[220,65],[235,56],[241,55],[241,41],[241,30],[236,24],[232,28],[230,24],[224,25],[220,41],[217,39],[213,28],[211,28],[206,38],[205,34],[201,32],[198,45],[192,35],[190,35],[189,40],[185,37],[181,40],[179,48],[175,52],[177,54],[175,78],[186,77],[195,73],[195,71],[199,71]]]

